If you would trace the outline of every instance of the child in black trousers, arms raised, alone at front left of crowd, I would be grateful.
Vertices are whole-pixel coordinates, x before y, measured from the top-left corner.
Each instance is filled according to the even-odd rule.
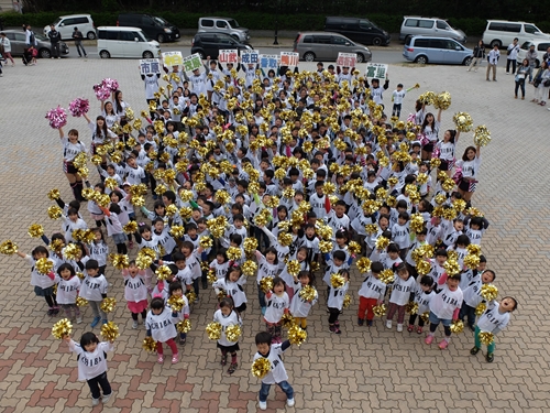
[[[75,343],[69,335],[63,338],[69,350],[78,355],[78,380],[86,380],[91,391],[91,405],[99,404],[101,391],[102,403],[106,404],[112,395],[111,384],[107,378],[107,351],[114,349],[112,341],[99,343],[94,333],[85,333],[80,344]],[[101,391],[99,388],[101,387]]]

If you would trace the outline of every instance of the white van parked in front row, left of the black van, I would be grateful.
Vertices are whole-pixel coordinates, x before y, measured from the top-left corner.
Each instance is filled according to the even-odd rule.
[[[98,28],[98,54],[101,58],[160,57],[161,45],[150,40],[139,28],[101,26]]]

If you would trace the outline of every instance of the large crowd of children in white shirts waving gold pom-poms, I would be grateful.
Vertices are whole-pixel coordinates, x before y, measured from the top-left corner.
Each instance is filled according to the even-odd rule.
[[[66,138],[59,129],[64,171],[76,200],[66,205],[54,197],[63,208],[63,227],[52,239],[43,236],[50,250],[40,246],[31,256],[19,253],[32,267],[31,284],[45,297],[48,315],[56,315],[61,305],[67,317],[81,323],[76,303],[82,297],[92,308],[94,328],[108,322],[102,300],[123,296],[132,328],[139,328],[141,315],[147,336],[157,343],[158,362],[164,362],[166,344],[176,363],[182,351],[176,338],[186,341],[176,324],[193,319],[194,312],[212,312],[221,325],[221,365],[231,356],[231,374],[238,368],[239,343],[226,329],[246,328],[244,313],[258,308],[266,332],[256,335],[254,358],[272,363],[260,391],[263,410],[274,383],[294,405],[279,359],[290,345],[283,340],[283,320],[290,314],[307,329],[307,318],[324,294],[317,291],[322,283],[328,312],[323,328],[333,334],[345,332],[339,315],[346,295],[359,296],[359,326],[373,326],[384,303],[387,328],[396,320],[398,333],[406,328],[420,335],[429,323],[426,345],[442,324],[441,349],[448,347],[458,319],[474,332],[472,355],[481,348],[482,333],[506,327],[517,302],[484,298],[483,285],[493,285],[495,272],[470,247],[482,244],[488,227],[472,207],[481,149],[468,146],[457,161],[460,132],[440,129],[441,109],[432,113],[417,101],[416,111],[399,120],[405,91],[410,90],[399,84],[393,95],[394,117],[387,119],[383,91],[388,81],[369,83],[353,68],[282,67],[262,77],[254,65],[224,68],[211,61],[205,67],[206,73],[193,74],[167,68],[165,88],[158,88],[155,77],[147,86],[150,110],[143,126],[132,123],[120,91],[113,102],[101,102],[96,120],[86,117],[98,177],[86,176],[76,164],[87,152],[78,131],[72,129]],[[152,209],[143,206],[145,199]],[[81,208],[86,202],[89,216]],[[94,237],[81,240],[78,235],[87,230],[87,221],[94,222]],[[77,254],[66,253],[69,243]],[[130,256],[122,270],[123,292],[112,292],[106,279],[109,243],[118,254]],[[151,251],[153,262],[144,265]],[[52,263],[46,274],[37,268],[43,259]],[[458,270],[450,271],[449,262]],[[161,267],[169,274],[155,281]],[[257,300],[246,295],[249,276],[255,280]],[[358,276],[363,279],[359,293],[350,290],[350,280]],[[200,303],[207,289],[220,297],[218,308],[191,304]],[[170,308],[173,296],[184,300],[180,311]],[[89,368],[81,361],[86,352],[101,356],[112,349],[98,346],[89,335],[80,346],[67,338],[80,355],[81,369]],[[493,358],[491,343],[486,359]],[[110,398],[109,383],[98,379],[105,370],[96,370],[79,373],[92,379],[95,404],[98,383],[107,393],[103,402]]]

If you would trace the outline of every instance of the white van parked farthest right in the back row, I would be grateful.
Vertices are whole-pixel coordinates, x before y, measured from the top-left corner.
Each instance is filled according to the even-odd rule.
[[[515,37],[518,37],[519,44],[529,40],[550,40],[550,35],[542,33],[539,28],[532,23],[509,22],[507,20],[487,20],[487,26],[483,32],[483,44],[506,47]]]

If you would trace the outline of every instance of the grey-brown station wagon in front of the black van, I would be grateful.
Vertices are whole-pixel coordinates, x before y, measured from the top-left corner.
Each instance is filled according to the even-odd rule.
[[[300,59],[336,61],[338,53],[355,53],[358,63],[370,62],[372,53],[369,47],[354,43],[348,37],[331,32],[304,32],[298,33],[294,41],[294,52],[299,53]]]

